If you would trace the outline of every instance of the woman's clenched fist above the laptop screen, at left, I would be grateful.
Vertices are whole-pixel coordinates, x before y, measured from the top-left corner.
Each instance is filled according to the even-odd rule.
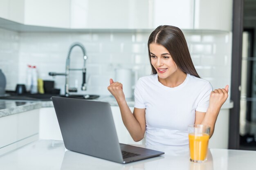
[[[125,99],[123,84],[119,82],[114,82],[113,79],[110,79],[110,85],[108,86],[108,91],[115,97],[117,101]]]

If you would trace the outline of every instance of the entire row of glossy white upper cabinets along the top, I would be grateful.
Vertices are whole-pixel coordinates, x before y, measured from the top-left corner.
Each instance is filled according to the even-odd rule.
[[[231,31],[232,0],[0,0],[0,17],[64,29]]]

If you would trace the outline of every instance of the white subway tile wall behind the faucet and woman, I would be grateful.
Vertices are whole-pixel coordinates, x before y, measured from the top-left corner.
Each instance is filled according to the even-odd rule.
[[[198,74],[213,88],[231,83],[231,33],[184,31],[189,51]],[[51,77],[49,72],[64,73],[70,45],[81,42],[87,51],[87,91],[81,91],[81,71],[70,72],[70,86],[79,94],[110,95],[109,79],[115,80],[115,68],[130,68],[138,77],[150,75],[147,41],[143,33],[16,33],[0,29],[0,68],[7,75],[7,89],[25,83],[27,64],[35,65],[38,78],[54,80],[64,93],[64,76]],[[2,45],[4,44],[4,45]],[[82,68],[79,47],[71,53],[70,68]],[[132,84],[135,80],[132,79]]]

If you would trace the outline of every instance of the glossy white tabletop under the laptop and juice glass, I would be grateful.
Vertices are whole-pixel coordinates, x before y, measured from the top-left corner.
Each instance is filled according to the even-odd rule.
[[[63,141],[39,140],[0,155],[1,170],[251,170],[256,151],[210,149],[205,163],[189,161],[189,148],[144,146],[164,151],[159,157],[119,164],[66,150]]]

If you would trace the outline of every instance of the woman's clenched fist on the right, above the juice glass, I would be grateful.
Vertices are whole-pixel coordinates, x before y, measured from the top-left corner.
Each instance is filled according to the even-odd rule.
[[[225,88],[218,88],[211,92],[210,101],[209,101],[209,109],[220,109],[222,104],[227,100],[229,92],[229,85]]]

